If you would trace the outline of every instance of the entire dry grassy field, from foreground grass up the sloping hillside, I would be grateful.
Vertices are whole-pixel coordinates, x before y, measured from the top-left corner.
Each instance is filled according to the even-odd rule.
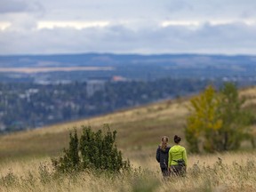
[[[247,98],[244,108],[256,114],[256,88],[241,90],[240,94]],[[166,100],[1,136],[0,191],[256,191],[256,152],[246,142],[244,152],[188,155],[186,178],[163,180],[156,163],[156,147],[163,135],[184,138],[188,105],[188,99]],[[68,132],[74,127],[81,131],[81,125],[98,130],[102,124],[117,131],[117,147],[135,170],[116,176],[93,172],[54,175],[51,158],[68,146]],[[252,130],[255,136],[255,125]],[[181,142],[187,146],[186,140]]]

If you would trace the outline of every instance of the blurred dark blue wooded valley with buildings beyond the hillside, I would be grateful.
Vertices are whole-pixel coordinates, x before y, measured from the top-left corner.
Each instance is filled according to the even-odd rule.
[[[88,95],[85,82],[0,84],[0,129],[13,132],[107,114],[200,92],[207,84],[206,80],[172,78],[106,82],[92,95]]]

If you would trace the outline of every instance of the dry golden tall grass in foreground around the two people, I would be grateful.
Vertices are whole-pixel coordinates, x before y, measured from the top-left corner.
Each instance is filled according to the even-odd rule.
[[[4,162],[1,191],[225,191],[256,190],[256,153],[188,156],[186,177],[164,180],[155,154],[132,161],[120,174],[80,172],[53,174],[50,158]]]

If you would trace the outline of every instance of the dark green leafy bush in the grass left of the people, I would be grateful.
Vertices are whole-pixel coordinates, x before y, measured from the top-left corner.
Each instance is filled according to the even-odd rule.
[[[116,131],[110,132],[108,124],[93,132],[90,126],[82,126],[83,132],[78,140],[76,129],[69,133],[69,148],[64,148],[64,155],[52,159],[52,165],[58,172],[76,172],[84,170],[103,170],[120,172],[128,170],[130,163],[123,160],[116,147]]]

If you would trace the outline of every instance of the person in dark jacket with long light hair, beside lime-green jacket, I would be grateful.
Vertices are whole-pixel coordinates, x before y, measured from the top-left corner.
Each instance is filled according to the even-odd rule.
[[[168,171],[168,157],[170,146],[168,146],[168,137],[164,136],[161,139],[161,144],[156,150],[156,161],[160,164],[161,171],[163,176],[166,177],[169,175]]]

